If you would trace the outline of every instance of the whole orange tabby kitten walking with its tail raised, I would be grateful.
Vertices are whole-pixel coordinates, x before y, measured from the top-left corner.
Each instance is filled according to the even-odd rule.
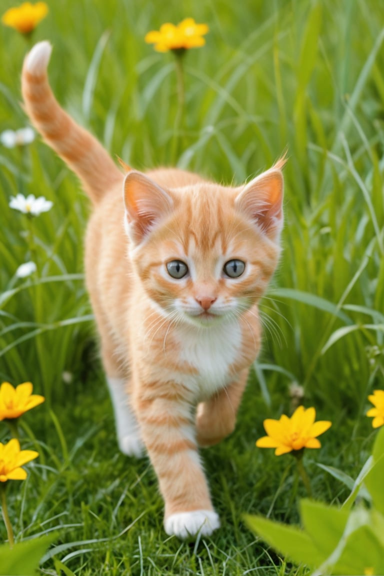
[[[280,252],[285,160],[239,187],[168,168],[124,175],[59,107],[50,55],[44,41],[26,56],[22,94],[93,203],[86,283],[120,449],[149,454],[167,534],[210,535],[219,517],[198,446],[234,430],[260,349],[257,304]]]

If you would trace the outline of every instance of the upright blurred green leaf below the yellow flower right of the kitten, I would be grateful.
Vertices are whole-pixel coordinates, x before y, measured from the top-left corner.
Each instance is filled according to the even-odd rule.
[[[306,532],[317,548],[329,556],[343,536],[348,511],[308,499],[302,500],[300,505],[301,519]]]

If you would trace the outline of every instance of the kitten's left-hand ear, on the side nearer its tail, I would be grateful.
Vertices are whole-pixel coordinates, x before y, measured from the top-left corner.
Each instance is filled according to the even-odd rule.
[[[131,240],[141,242],[173,209],[173,200],[153,180],[132,170],[124,179],[126,230]]]

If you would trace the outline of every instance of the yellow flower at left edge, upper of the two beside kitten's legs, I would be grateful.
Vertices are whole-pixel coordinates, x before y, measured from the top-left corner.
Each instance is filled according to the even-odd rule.
[[[31,382],[24,382],[13,388],[9,382],[0,386],[0,420],[18,418],[27,410],[44,402],[44,396],[32,394]]]

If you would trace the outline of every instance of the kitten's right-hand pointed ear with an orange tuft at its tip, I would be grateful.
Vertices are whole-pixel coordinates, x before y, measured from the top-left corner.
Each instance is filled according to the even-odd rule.
[[[243,188],[235,199],[235,208],[248,215],[267,236],[278,240],[283,228],[283,194],[283,174],[276,164]]]

